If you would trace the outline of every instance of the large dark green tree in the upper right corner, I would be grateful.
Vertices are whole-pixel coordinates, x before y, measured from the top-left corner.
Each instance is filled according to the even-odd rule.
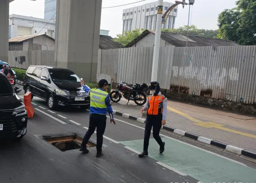
[[[218,16],[218,38],[256,45],[256,0],[238,0],[237,7]]]

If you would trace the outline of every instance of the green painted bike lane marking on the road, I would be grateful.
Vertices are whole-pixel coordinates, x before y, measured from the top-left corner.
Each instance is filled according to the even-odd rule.
[[[148,156],[203,183],[256,182],[256,170],[251,167],[176,140],[169,138],[162,140],[165,141],[165,152],[159,154],[159,145],[154,139],[150,139]],[[139,152],[143,148],[143,140],[120,143]]]

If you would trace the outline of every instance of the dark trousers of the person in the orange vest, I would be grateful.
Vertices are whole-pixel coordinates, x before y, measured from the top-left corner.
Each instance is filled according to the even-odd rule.
[[[143,151],[148,151],[148,145],[149,145],[149,138],[151,134],[151,129],[153,126],[153,137],[157,141],[157,143],[162,146],[163,141],[161,137],[159,136],[160,129],[162,126],[162,114],[160,115],[147,115],[146,118],[146,125],[145,125],[145,132],[144,132],[144,145],[143,145]]]

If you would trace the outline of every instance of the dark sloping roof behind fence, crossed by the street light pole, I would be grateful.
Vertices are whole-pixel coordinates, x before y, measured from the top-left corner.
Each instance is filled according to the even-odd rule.
[[[142,32],[140,36],[131,41],[131,43],[128,43],[125,47],[129,48],[135,43],[138,43],[142,38],[147,36],[149,33],[155,34],[155,32],[153,31],[145,30]],[[186,47],[187,36],[170,32],[161,32],[161,38],[176,47]],[[188,35],[188,47],[196,46],[239,46],[239,44],[223,39],[205,38],[200,36]]]

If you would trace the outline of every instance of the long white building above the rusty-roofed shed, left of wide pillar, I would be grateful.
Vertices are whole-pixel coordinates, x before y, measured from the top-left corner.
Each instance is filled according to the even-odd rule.
[[[55,38],[56,21],[51,20],[48,22],[49,20],[32,16],[10,15],[9,39],[33,34],[47,34]]]

